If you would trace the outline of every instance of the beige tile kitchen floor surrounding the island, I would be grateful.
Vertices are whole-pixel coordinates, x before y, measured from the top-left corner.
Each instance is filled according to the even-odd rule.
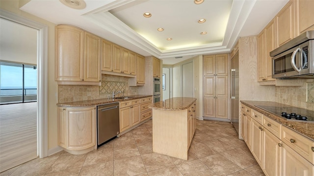
[[[197,120],[188,160],[152,150],[152,120],[101,146],[73,155],[60,151],[0,173],[0,176],[263,176],[234,127]]]

